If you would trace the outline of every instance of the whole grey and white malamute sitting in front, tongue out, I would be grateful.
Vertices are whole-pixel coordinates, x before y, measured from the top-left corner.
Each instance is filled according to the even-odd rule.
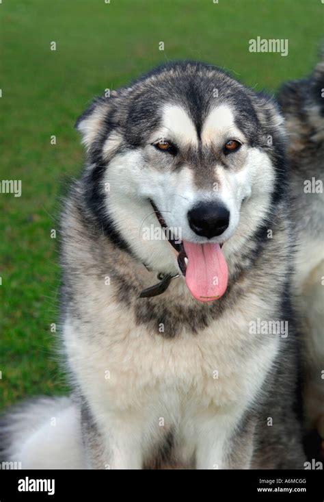
[[[23,468],[303,468],[282,116],[176,62],[94,101],[62,215],[70,399],[7,417]]]

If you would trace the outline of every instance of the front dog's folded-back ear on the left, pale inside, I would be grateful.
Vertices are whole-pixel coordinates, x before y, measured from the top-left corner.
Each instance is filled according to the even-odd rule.
[[[90,150],[100,131],[103,130],[105,119],[111,108],[111,98],[99,97],[92,102],[92,105],[77,120],[76,129],[82,135],[82,142],[87,151]]]

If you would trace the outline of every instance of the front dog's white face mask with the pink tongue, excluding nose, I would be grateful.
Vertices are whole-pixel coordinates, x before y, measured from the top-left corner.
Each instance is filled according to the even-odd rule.
[[[222,149],[231,139],[238,140],[241,147],[223,159]],[[154,147],[159,140],[177,145],[184,158],[189,149],[215,151],[215,162],[209,166],[206,179],[204,165],[199,166],[199,173],[194,162],[183,162],[177,168],[170,153]],[[105,151],[118,143],[113,135],[107,140]],[[191,294],[198,301],[213,301],[227,288],[226,256],[243,246],[267,213],[273,179],[268,155],[247,145],[228,105],[219,105],[209,112],[198,138],[187,111],[169,104],[161,110],[159,129],[152,131],[144,147],[111,159],[103,183],[109,186],[107,210],[140,260],[162,273],[179,272],[177,254],[170,243],[159,232],[147,232],[150,228],[161,230],[150,203],[153,201],[172,229],[174,239],[183,242],[187,254],[186,284]],[[189,226],[188,212],[201,202],[221,203],[230,212],[229,225],[220,236],[208,239],[195,234]],[[145,239],[144,231],[151,238]]]

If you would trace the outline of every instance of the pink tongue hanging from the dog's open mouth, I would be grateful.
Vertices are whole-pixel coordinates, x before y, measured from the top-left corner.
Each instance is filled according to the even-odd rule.
[[[183,241],[188,257],[186,284],[199,301],[220,298],[227,288],[228,268],[219,244]]]

